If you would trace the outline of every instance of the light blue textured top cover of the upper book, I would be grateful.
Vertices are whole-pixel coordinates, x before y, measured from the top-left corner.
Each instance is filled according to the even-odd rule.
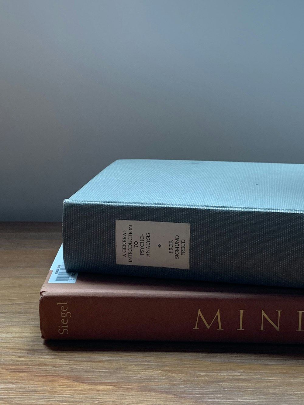
[[[116,160],[69,200],[302,212],[304,165]]]

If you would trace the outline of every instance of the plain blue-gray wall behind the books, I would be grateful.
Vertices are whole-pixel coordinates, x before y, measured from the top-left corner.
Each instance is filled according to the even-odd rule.
[[[304,163],[302,0],[0,1],[0,220],[113,160]]]

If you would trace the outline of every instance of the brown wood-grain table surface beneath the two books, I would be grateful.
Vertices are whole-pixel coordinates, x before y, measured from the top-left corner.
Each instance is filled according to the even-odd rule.
[[[304,404],[293,345],[45,343],[39,289],[58,223],[0,223],[0,404]]]

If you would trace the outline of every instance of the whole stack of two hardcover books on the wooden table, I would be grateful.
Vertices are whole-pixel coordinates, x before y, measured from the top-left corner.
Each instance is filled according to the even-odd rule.
[[[44,339],[304,341],[302,164],[117,160],[62,229]]]

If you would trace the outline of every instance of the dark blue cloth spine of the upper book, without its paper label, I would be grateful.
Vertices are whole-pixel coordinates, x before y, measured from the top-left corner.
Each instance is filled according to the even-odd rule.
[[[190,224],[189,268],[116,264],[116,221]],[[64,201],[68,271],[304,287],[304,213]]]

